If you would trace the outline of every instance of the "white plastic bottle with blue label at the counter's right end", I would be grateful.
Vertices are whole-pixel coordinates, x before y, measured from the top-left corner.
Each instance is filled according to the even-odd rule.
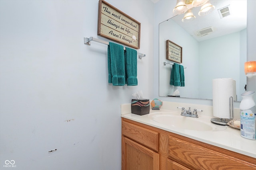
[[[256,140],[256,106],[252,98],[254,93],[248,91],[241,94],[240,103],[241,136],[252,140]]]

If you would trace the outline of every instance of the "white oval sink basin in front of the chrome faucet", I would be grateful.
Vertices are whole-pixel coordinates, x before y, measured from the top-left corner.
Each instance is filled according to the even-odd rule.
[[[191,131],[221,131],[226,129],[226,126],[210,123],[210,117],[186,117],[179,113],[172,112],[150,113],[148,117],[158,123],[168,125],[174,129],[186,129]]]

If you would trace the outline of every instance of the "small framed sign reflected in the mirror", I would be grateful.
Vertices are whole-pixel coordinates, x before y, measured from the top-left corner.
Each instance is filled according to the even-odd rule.
[[[182,47],[170,40],[166,40],[166,59],[182,63]]]

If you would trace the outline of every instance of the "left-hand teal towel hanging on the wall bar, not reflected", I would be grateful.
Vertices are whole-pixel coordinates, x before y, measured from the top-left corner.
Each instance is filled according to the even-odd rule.
[[[109,42],[108,45],[108,83],[113,86],[124,86],[124,47]]]

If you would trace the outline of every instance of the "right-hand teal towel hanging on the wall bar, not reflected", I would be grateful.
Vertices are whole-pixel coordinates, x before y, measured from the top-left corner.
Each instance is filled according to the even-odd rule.
[[[137,86],[137,51],[126,47],[125,51],[125,68],[127,77],[127,86]]]

